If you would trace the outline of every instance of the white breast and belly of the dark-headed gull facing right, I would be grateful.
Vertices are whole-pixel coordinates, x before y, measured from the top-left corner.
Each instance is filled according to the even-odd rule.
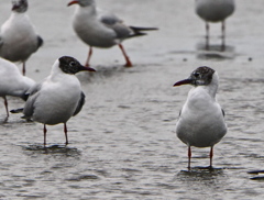
[[[74,75],[51,75],[35,101],[33,120],[51,125],[67,122],[77,108],[80,92],[80,82]]]

